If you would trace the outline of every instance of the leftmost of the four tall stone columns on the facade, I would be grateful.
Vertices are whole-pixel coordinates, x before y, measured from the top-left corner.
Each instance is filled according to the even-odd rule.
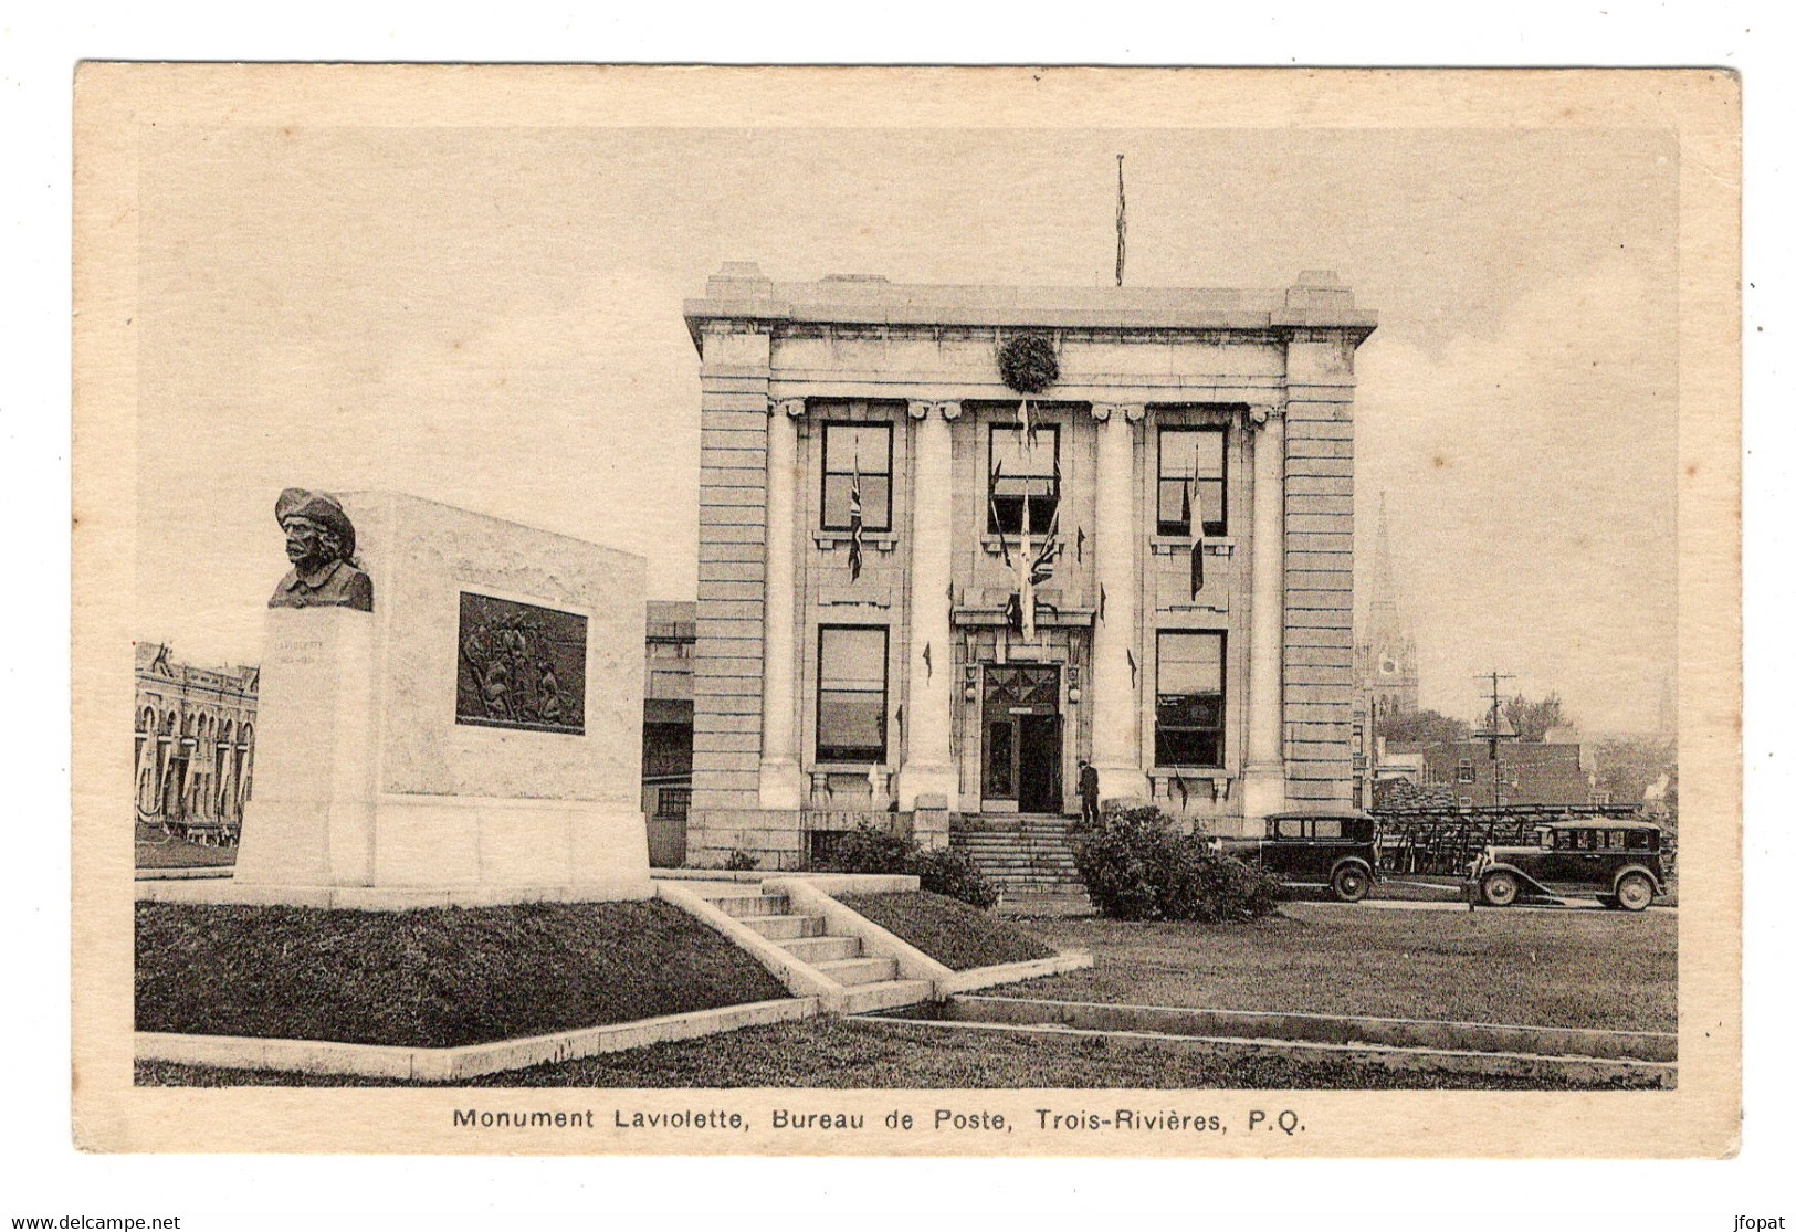
[[[799,806],[794,697],[794,526],[797,524],[797,420],[805,399],[769,404],[767,422],[767,641],[762,652],[762,808]]]

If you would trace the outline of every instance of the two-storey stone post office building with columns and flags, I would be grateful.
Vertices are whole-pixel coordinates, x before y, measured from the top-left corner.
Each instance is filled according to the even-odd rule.
[[[688,857],[797,867],[893,814],[939,844],[950,815],[1078,812],[1079,760],[1105,799],[1219,833],[1347,803],[1354,352],[1376,320],[1331,273],[1069,289],[727,264],[686,302]],[[1022,334],[1058,368],[1033,435],[999,365]],[[1049,533],[1031,641],[1013,560]]]

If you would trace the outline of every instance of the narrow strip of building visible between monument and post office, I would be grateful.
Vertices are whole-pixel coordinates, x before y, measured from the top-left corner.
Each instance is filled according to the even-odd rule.
[[[643,654],[643,815],[648,862],[679,867],[686,858],[691,808],[691,666],[697,603],[648,600]]]

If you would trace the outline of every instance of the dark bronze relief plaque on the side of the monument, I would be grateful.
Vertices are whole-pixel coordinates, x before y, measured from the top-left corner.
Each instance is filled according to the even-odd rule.
[[[454,720],[585,735],[585,616],[462,591]]]

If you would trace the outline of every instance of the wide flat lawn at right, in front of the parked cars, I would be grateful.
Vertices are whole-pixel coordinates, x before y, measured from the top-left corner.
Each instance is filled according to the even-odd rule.
[[[1677,1029],[1677,916],[1284,903],[1239,925],[1034,921],[1096,966],[990,995]]]

